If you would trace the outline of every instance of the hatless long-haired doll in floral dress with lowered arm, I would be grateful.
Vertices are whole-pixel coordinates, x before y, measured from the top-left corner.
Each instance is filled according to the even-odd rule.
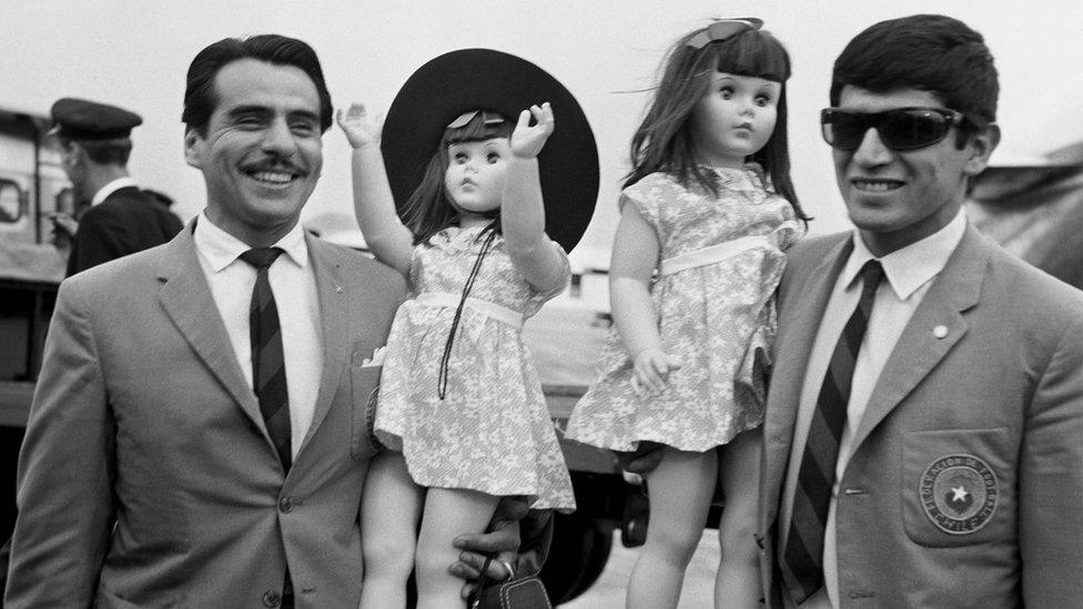
[[[786,151],[789,59],[757,19],[716,21],[668,55],[632,140],[609,266],[615,332],[567,437],[661,445],[630,608],[676,607],[716,481],[715,607],[757,607],[765,366],[783,250],[802,233]]]

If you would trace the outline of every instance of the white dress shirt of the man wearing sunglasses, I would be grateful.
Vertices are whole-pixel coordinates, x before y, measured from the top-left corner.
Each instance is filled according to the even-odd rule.
[[[847,420],[839,443],[839,460],[836,463],[836,481],[831,489],[830,511],[823,536],[823,580],[824,588],[812,595],[801,603],[802,608],[829,608],[839,606],[839,561],[836,545],[836,504],[839,495],[839,480],[846,471],[850,460],[853,435],[861,424],[869,397],[875,387],[880,372],[888,357],[894,351],[895,343],[913,316],[921,300],[929,291],[933,280],[943,270],[952,252],[962,241],[966,230],[966,217],[960,210],[955,217],[943,229],[928,237],[892,252],[880,260],[883,265],[884,281],[877,290],[872,305],[872,314],[866,328],[861,351],[853,367],[853,378],[850,387],[850,400],[847,404]],[[842,328],[858,306],[861,296],[861,283],[856,281],[861,266],[875,256],[869,251],[858,231],[853,232],[853,252],[834,283],[831,297],[820,322],[820,329],[812,343],[809,354],[809,365],[801,385],[801,397],[798,406],[798,418],[793,429],[793,445],[790,447],[790,460],[782,488],[781,521],[786,530],[782,531],[785,541],[789,534],[790,517],[793,509],[793,496],[797,489],[798,471],[804,443],[809,435],[812,415],[816,410],[820,386],[827,374],[828,365],[834,345],[842,335]],[[780,545],[780,548],[785,545]],[[787,606],[793,607],[788,593],[785,593]]]

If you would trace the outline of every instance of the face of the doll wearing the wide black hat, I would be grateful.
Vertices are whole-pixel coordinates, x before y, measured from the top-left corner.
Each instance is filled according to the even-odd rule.
[[[499,209],[510,155],[507,138],[447,146],[444,187],[460,212],[484,213]]]

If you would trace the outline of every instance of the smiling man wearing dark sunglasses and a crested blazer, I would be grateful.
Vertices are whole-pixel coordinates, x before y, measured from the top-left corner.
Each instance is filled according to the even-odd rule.
[[[1083,603],[1083,294],[962,212],[996,146],[982,37],[914,16],[834,64],[852,233],[790,251],[765,423],[771,607]]]

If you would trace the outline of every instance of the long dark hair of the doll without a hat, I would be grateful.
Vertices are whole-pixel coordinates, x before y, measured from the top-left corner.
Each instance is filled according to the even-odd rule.
[[[644,176],[665,172],[685,187],[698,184],[718,195],[716,180],[696,164],[689,118],[696,103],[707,94],[715,72],[757,77],[780,83],[778,119],[762,149],[749,160],[759,163],[775,192],[793,206],[801,220],[809,220],[798,204],[790,180],[790,153],[787,141],[786,81],[790,78],[790,57],[773,35],[763,30],[748,30],[726,40],[696,49],[687,42],[700,33],[695,30],[681,37],[666,53],[665,71],[639,129],[631,139],[631,166],[625,177],[628,187]]]

